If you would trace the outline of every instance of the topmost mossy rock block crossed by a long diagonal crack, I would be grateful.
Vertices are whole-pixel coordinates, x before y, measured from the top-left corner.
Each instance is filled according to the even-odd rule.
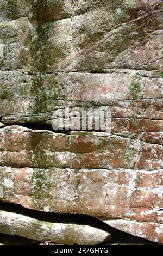
[[[19,2],[21,7],[16,14],[15,7],[11,7],[10,16],[23,15],[23,4]],[[39,70],[129,68],[160,71],[162,68],[162,3],[159,0],[150,4],[147,1],[112,3],[110,0],[76,1],[73,5],[71,0],[27,2],[24,10],[35,25],[35,47],[31,44]],[[45,22],[46,25],[40,25]],[[64,40],[67,46],[70,45],[68,51],[66,45],[64,48]],[[41,63],[36,61],[38,52],[42,56]]]

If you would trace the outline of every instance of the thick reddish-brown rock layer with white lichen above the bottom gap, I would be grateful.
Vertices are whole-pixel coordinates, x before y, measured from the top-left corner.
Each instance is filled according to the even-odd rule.
[[[101,132],[62,134],[16,125],[2,128],[0,135],[3,202],[47,212],[133,220],[133,229],[130,224],[121,226],[121,221],[110,224],[137,236],[144,223],[146,229],[161,230],[161,145]],[[160,233],[158,240],[147,231],[143,237],[162,241]]]

